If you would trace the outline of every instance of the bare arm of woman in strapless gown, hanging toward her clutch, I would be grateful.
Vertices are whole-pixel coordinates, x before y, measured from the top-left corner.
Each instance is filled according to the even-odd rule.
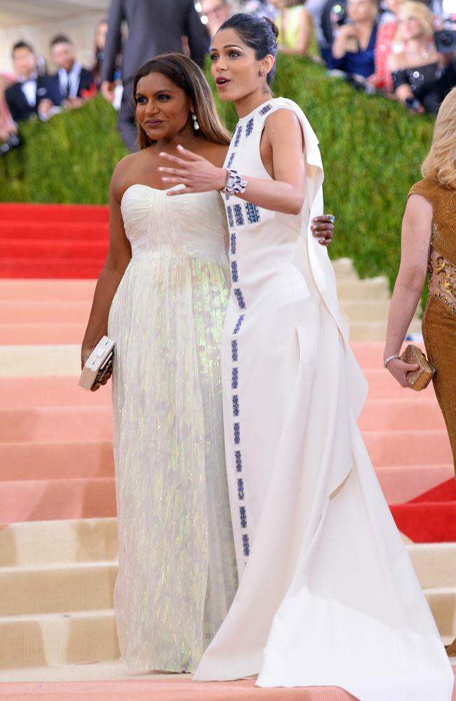
[[[109,251],[95,287],[92,309],[82,342],[82,365],[102,336],[107,335],[107,319],[112,299],[131,259],[130,243],[123,229],[118,192],[119,172],[117,169],[116,171],[109,190]]]

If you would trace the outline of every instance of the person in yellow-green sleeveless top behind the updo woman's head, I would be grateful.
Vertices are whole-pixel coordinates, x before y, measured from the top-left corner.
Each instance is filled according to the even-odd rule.
[[[279,11],[275,18],[279,29],[279,50],[299,56],[319,56],[314,20],[302,0],[271,0]]]

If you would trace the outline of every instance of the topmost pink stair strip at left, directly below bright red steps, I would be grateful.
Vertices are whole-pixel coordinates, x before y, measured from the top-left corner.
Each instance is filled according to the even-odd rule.
[[[29,303],[34,301],[74,300],[90,303],[96,280],[0,280],[0,299]]]

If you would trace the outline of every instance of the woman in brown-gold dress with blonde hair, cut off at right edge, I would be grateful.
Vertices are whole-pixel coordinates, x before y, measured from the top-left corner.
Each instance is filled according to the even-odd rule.
[[[389,308],[384,362],[398,383],[408,387],[405,376],[417,366],[398,355],[429,271],[422,330],[427,356],[437,371],[434,389],[456,468],[456,88],[438,111],[421,172],[423,179],[408,193],[402,222],[401,267]],[[456,655],[456,641],[447,651]]]

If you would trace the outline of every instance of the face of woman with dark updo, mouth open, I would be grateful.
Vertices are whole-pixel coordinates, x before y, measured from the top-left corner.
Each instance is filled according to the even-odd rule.
[[[221,29],[215,34],[210,60],[210,72],[223,101],[242,100],[257,90],[264,92],[266,74],[274,64],[270,55],[257,60],[255,50],[247,46],[234,29]],[[264,74],[260,75],[260,71]]]

